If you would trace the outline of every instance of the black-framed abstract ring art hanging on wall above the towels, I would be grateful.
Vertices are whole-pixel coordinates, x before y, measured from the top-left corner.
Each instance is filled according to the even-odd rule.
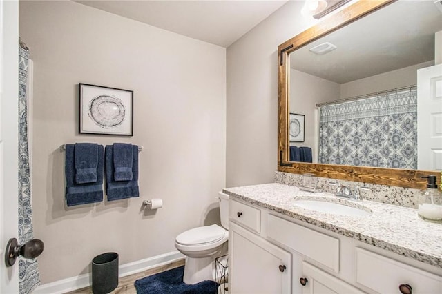
[[[79,133],[133,136],[133,91],[79,86]]]

